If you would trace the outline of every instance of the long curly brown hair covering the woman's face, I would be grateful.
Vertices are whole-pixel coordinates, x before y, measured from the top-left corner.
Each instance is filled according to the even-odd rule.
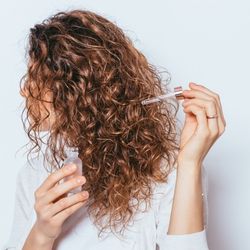
[[[161,72],[121,28],[91,11],[60,11],[36,24],[27,51],[20,87],[28,93],[28,156],[41,151],[39,131],[53,114],[45,151],[51,169],[62,167],[66,146],[78,147],[89,214],[100,232],[122,232],[141,202],[150,205],[152,183],[165,182],[173,167],[178,102],[141,104],[168,91]]]

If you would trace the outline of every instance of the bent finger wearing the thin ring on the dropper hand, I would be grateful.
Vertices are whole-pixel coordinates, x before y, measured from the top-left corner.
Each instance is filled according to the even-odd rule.
[[[206,110],[206,115],[212,116],[213,114],[216,113],[216,105],[214,104],[213,101],[208,101],[204,99],[190,99],[190,100],[185,100],[183,102],[183,107],[188,107],[188,105],[197,105],[201,108],[205,108]],[[215,119],[207,119],[208,127],[211,133],[211,136],[216,137],[219,132],[219,126],[218,126],[218,120],[217,118]]]

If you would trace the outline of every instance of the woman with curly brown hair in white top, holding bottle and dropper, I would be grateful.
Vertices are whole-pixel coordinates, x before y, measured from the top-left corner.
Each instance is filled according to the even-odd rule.
[[[35,25],[28,55],[21,95],[31,151],[41,152],[40,132],[49,136],[43,161],[18,174],[6,249],[208,249],[202,162],[225,129],[219,96],[189,84],[178,141],[176,106],[141,104],[163,94],[155,67],[90,11]],[[61,182],[76,171],[62,164],[70,147],[83,176]]]

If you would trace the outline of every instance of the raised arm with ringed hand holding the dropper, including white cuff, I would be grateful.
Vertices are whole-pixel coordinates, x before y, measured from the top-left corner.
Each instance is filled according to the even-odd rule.
[[[177,159],[176,187],[171,192],[173,203],[166,236],[162,235],[162,229],[158,230],[160,249],[208,249],[201,166],[226,123],[219,96],[202,85],[190,83],[190,87],[191,90],[182,93],[186,99],[182,104],[186,116]],[[162,203],[168,211],[165,213],[169,213],[171,201]]]

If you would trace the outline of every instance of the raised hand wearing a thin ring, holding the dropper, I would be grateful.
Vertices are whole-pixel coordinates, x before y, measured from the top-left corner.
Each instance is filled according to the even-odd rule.
[[[219,95],[202,85],[190,83],[184,90],[185,123],[181,133],[178,162],[201,165],[214,142],[224,132],[226,121]],[[208,119],[207,116],[217,115]]]

